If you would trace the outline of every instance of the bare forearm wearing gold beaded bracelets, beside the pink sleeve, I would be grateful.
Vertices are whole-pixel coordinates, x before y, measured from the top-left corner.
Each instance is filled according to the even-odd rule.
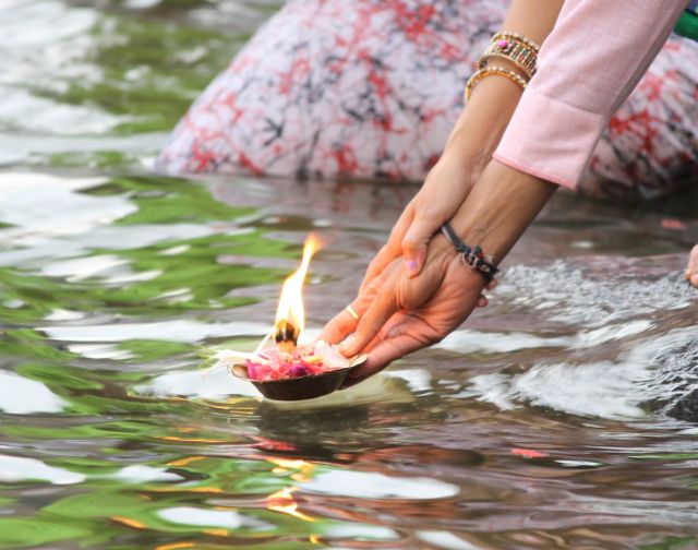
[[[514,0],[502,25],[502,31],[517,33],[542,44],[551,33],[563,5],[563,0]],[[498,67],[518,71],[516,65],[496,59]],[[482,167],[490,160],[522,89],[504,77],[488,77],[476,89],[462,110],[448,138],[444,154],[458,154]]]

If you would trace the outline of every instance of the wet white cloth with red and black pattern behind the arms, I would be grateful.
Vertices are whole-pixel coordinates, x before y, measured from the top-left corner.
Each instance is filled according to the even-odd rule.
[[[158,167],[420,180],[507,5],[291,0],[191,107]],[[669,40],[611,120],[582,192],[651,198],[696,181],[697,61],[698,44]]]

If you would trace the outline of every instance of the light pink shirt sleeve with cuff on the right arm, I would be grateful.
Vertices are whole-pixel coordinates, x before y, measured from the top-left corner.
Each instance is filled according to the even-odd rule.
[[[494,158],[575,189],[686,0],[566,0]]]

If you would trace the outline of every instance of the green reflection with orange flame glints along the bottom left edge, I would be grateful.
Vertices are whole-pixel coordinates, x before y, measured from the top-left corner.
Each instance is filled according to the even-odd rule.
[[[362,529],[353,522],[316,517],[299,510],[292,478],[300,469],[279,468],[266,461],[193,455],[153,465],[160,466],[160,471],[167,468],[170,476],[179,475],[179,482],[129,482],[115,475],[113,463],[94,458],[63,457],[51,461],[51,465],[81,471],[88,478],[77,494],[55,500],[32,518],[0,518],[3,548],[68,538],[94,545],[115,540],[132,529],[137,530],[140,543],[155,541],[158,534],[170,534],[194,540],[232,537],[274,548],[269,543],[278,537],[308,543],[333,529]],[[302,469],[304,476],[312,476],[314,469],[332,468],[305,463]],[[40,526],[46,528],[37,528]],[[394,538],[389,529],[365,526],[363,530],[361,538],[368,540]],[[172,542],[171,538],[167,540]]]

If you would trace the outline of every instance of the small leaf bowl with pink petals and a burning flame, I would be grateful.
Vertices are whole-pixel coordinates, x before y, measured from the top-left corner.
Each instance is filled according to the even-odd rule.
[[[252,354],[226,349],[216,355],[216,366],[225,366],[236,376],[252,382],[270,399],[300,400],[329,394],[366,360],[365,355],[348,359],[337,346],[324,340],[298,344],[305,326],[303,282],[317,250],[320,240],[311,234],[301,266],[284,283],[275,330],[257,349]]]

